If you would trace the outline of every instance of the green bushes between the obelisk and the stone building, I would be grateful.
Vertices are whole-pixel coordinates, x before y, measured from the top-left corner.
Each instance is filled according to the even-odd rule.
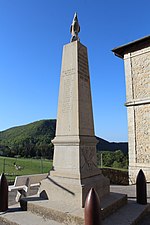
[[[128,156],[121,150],[115,152],[104,151],[97,153],[97,163],[103,167],[128,168]]]

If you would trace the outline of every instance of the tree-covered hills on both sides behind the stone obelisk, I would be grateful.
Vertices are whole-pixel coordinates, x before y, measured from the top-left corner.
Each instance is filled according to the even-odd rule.
[[[40,120],[0,132],[0,155],[22,157],[53,157],[56,120]],[[122,150],[127,153],[127,143],[110,143],[96,137],[98,151]]]

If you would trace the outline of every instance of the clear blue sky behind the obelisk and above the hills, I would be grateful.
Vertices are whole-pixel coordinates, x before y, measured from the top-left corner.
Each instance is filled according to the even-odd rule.
[[[127,141],[124,64],[111,49],[149,35],[149,9],[149,0],[0,0],[0,131],[57,117],[62,48],[76,11],[95,134]]]

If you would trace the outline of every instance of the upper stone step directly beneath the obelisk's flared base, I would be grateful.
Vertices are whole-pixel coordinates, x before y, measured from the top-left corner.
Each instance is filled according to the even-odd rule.
[[[103,219],[127,203],[127,195],[110,193],[101,199]],[[84,209],[61,201],[26,198],[21,200],[23,210],[66,225],[84,225]]]

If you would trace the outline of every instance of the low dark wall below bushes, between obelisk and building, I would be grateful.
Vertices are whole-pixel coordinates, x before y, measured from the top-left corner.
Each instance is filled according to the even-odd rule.
[[[110,168],[102,168],[101,170],[103,175],[110,179],[110,184],[129,184],[128,172]]]

